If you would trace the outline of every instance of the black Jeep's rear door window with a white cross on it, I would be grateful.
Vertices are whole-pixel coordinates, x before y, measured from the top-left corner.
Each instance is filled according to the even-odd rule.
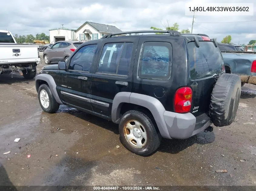
[[[129,74],[133,43],[105,44],[98,65],[98,73]]]

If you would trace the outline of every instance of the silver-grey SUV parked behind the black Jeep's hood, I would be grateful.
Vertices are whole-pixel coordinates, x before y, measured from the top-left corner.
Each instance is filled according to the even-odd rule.
[[[78,41],[58,41],[52,46],[48,46],[44,51],[45,64],[63,60],[66,62],[80,44],[82,43]]]

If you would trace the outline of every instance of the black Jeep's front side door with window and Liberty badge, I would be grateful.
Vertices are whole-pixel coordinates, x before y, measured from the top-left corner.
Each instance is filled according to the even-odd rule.
[[[91,108],[91,65],[97,43],[79,48],[68,60],[67,70],[61,70],[58,76],[58,94],[63,102],[71,107],[92,110]]]

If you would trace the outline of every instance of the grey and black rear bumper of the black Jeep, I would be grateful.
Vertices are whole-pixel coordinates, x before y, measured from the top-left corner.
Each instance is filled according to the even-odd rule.
[[[163,115],[171,138],[189,138],[212,124],[210,118],[205,113],[195,117],[191,113],[165,111]]]

